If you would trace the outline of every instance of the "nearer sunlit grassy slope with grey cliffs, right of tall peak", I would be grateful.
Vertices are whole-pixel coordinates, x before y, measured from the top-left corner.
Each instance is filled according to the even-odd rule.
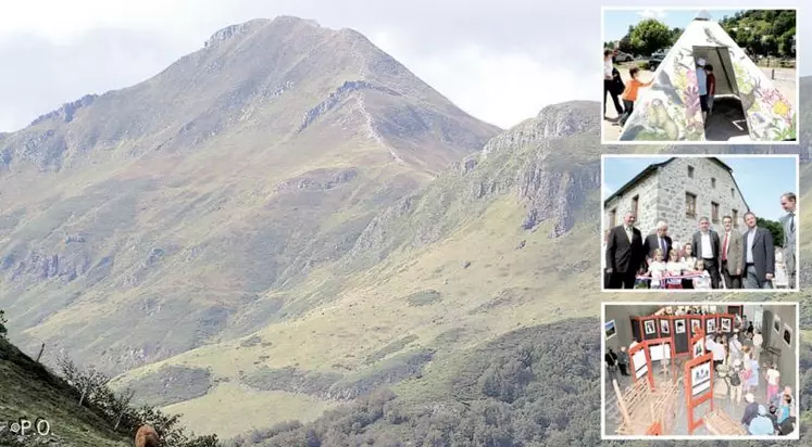
[[[305,399],[303,420],[318,408],[314,398],[324,408],[382,384],[415,399],[448,398],[446,374],[469,361],[466,349],[516,328],[595,315],[599,292],[573,293],[595,291],[599,268],[591,251],[600,145],[597,123],[584,118],[592,108],[548,107],[382,213],[340,263],[286,291],[296,318],[134,370],[121,383],[168,380],[171,365],[207,371],[209,394],[168,409],[229,436],[293,416],[229,417],[259,396],[266,408]],[[215,397],[217,421],[207,411]]]

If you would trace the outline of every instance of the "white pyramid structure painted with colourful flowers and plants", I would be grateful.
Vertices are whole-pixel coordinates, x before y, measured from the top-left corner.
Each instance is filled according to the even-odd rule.
[[[701,11],[640,88],[621,141],[704,141],[696,60],[713,65],[715,97],[741,101],[753,142],[796,140],[796,110],[719,23]]]

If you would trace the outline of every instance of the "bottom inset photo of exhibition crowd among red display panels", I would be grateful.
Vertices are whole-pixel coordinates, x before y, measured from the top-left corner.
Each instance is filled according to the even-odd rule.
[[[603,303],[604,439],[798,439],[798,303]]]

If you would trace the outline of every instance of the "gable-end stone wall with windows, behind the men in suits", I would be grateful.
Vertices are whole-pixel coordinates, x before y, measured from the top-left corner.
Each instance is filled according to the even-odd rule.
[[[694,167],[694,177],[688,177],[688,166]],[[747,205],[741,191],[736,187],[730,173],[710,158],[679,157],[665,165],[659,174],[658,216],[669,222],[669,233],[674,242],[685,244],[699,229],[699,218],[711,219],[711,229],[722,232],[722,217],[736,209],[734,225],[745,229],[744,217]],[[715,179],[715,188],[712,180]],[[686,216],[686,193],[697,196],[696,217]],[[777,200],[777,197],[776,197]],[[711,203],[719,204],[719,221],[713,221]]]

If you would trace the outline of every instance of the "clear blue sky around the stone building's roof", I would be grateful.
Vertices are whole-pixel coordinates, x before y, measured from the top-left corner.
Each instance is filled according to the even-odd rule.
[[[785,212],[778,202],[782,194],[798,191],[798,163],[794,156],[721,156],[733,169],[741,196],[757,216],[778,220]],[[663,156],[603,158],[603,199],[626,184],[646,167],[669,159]],[[739,212],[744,218],[745,213]]]

